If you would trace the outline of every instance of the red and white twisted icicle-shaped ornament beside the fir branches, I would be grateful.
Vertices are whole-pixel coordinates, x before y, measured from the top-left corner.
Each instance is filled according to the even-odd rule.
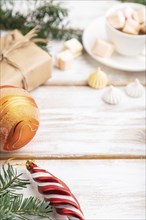
[[[79,202],[64,182],[30,160],[26,162],[26,167],[36,182],[38,191],[58,214],[69,220],[85,220]]]

